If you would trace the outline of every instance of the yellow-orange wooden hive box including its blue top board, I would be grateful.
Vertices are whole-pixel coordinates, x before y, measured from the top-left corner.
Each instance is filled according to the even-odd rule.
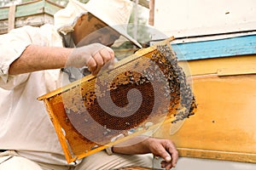
[[[198,107],[175,133],[165,124],[154,136],[172,139],[179,156],[255,163],[255,38],[177,44],[192,58],[188,64]]]

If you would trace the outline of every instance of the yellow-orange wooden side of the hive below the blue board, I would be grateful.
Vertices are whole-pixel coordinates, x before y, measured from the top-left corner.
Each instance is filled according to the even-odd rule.
[[[193,62],[191,72],[196,66],[202,70],[201,75],[193,76],[198,104],[195,116],[186,119],[177,133],[171,135],[171,127],[175,125],[165,124],[154,136],[172,139],[181,156],[256,162],[256,74],[244,71],[240,75],[237,70],[236,76],[219,77],[204,70],[207,61],[216,71],[232,64],[245,65],[244,68],[255,65],[255,58],[251,55],[189,61],[189,65]]]

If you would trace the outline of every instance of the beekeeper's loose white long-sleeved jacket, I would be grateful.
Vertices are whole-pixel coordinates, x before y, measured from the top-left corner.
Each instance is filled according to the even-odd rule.
[[[29,44],[62,47],[56,30],[73,31],[75,20],[84,13],[81,3],[71,0],[55,14],[55,26],[24,26],[0,36],[0,150],[17,150],[34,161],[67,164],[44,102],[37,99],[66,84],[67,74],[58,69],[10,76],[9,65]]]

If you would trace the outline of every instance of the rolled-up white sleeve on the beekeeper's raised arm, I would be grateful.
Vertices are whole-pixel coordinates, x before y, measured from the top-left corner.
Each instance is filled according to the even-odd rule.
[[[10,76],[9,65],[20,57],[28,45],[49,45],[46,35],[39,27],[24,26],[0,36],[0,88],[12,89],[26,81],[29,73]]]

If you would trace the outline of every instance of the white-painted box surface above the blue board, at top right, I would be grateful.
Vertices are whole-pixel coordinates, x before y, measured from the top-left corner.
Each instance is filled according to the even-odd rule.
[[[256,31],[255,0],[155,0],[154,3],[154,28],[168,37]]]

